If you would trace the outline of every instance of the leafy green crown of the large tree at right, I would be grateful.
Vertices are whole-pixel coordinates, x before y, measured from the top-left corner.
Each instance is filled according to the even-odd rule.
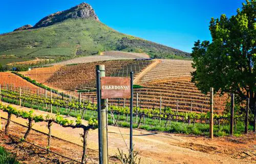
[[[255,103],[255,36],[256,1],[246,1],[237,15],[211,18],[209,30],[212,41],[195,42],[191,56],[192,80],[204,93],[210,87],[215,92],[236,93],[240,100]]]

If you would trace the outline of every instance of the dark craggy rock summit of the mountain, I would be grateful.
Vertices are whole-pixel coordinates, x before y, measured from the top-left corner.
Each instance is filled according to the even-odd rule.
[[[59,11],[47,17],[42,18],[39,22],[37,22],[34,25],[33,28],[36,29],[36,28],[52,25],[54,23],[61,22],[69,18],[84,18],[84,19],[93,18],[95,20],[99,20],[92,6],[87,3],[82,3],[71,9],[68,9],[65,11]]]

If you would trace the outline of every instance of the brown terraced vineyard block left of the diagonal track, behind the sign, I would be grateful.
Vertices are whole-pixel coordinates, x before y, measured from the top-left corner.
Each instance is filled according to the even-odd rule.
[[[63,66],[48,78],[46,85],[61,90],[92,89],[96,84],[96,65],[105,65],[106,76],[129,76],[131,70],[138,74],[151,63],[152,61],[119,60]]]

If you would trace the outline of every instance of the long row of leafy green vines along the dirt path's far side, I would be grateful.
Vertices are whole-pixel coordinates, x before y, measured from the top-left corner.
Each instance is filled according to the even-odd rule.
[[[11,99],[11,103],[16,103],[18,104],[19,99],[22,99],[23,105],[25,102],[28,102],[30,104],[29,107],[33,107],[33,104],[36,105],[34,106],[35,109],[39,110],[40,105],[42,107],[45,107],[46,104],[53,105],[56,107],[56,112],[58,113],[60,111],[60,108],[63,108],[66,112],[67,115],[70,115],[71,112],[74,112],[75,114],[78,114],[81,119],[84,119],[85,116],[87,115],[88,111],[96,111],[97,106],[96,102],[89,101],[81,101],[76,97],[73,98],[63,98],[62,97],[46,97],[46,96],[41,96],[41,95],[35,95],[35,94],[22,94],[21,97],[19,96],[18,92],[15,91],[10,91],[10,90],[5,90],[1,89],[1,98],[2,100],[4,98]],[[81,97],[80,97],[81,99]],[[46,107],[46,111],[48,111],[49,108]],[[81,111],[81,112],[80,112]],[[49,110],[50,112],[50,110]],[[112,118],[113,125],[117,125],[117,122],[120,119],[120,116],[128,116],[130,114],[129,107],[128,106],[116,106],[114,104],[110,104],[108,108],[108,112],[110,117]],[[134,116],[137,116],[139,118],[139,121],[137,121],[137,125],[135,125],[137,128],[140,127],[141,122],[143,121],[143,124],[145,123],[145,117],[152,119],[152,120],[160,120],[163,122],[165,121],[164,126],[167,126],[168,122],[171,121],[179,121],[183,123],[187,123],[190,125],[193,123],[200,122],[203,124],[209,124],[209,113],[195,113],[195,112],[180,112],[173,110],[170,107],[164,106],[164,108],[140,108],[139,106],[133,108],[133,113]],[[115,118],[117,116],[117,118]],[[234,115],[234,125],[236,129],[236,123],[238,121],[244,120],[244,115]],[[142,120],[143,119],[143,120]],[[249,120],[253,120],[253,115],[249,114],[248,115]],[[222,125],[225,123],[227,124],[230,120],[230,114],[214,114],[214,124],[218,125],[218,129],[221,128],[221,122]],[[128,118],[126,118],[126,121],[129,121]]]

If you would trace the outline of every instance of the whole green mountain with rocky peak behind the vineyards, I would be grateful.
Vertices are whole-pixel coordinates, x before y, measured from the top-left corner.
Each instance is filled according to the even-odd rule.
[[[0,35],[0,58],[56,58],[99,54],[106,50],[146,52],[157,58],[189,58],[190,54],[119,33],[101,23],[88,4],[51,14],[34,27]],[[78,10],[79,9],[79,10]]]

